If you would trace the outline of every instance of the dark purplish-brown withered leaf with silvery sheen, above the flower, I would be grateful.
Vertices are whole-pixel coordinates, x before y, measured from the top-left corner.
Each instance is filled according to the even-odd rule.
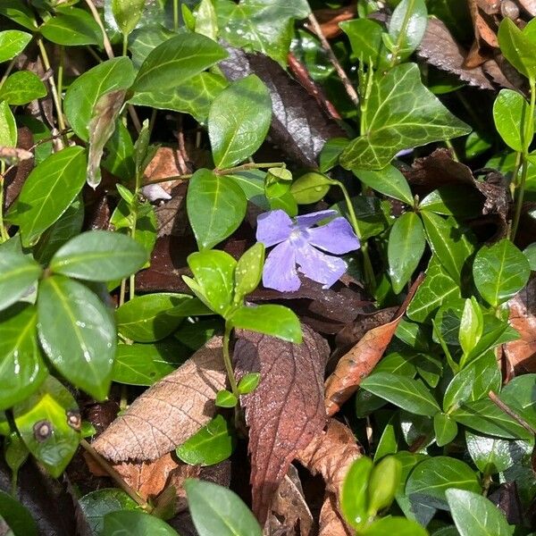
[[[247,54],[229,46],[227,50],[229,57],[219,66],[229,80],[255,73],[266,84],[272,97],[273,113],[269,139],[290,160],[303,167],[316,167],[325,142],[347,136],[279,63],[263,54]]]

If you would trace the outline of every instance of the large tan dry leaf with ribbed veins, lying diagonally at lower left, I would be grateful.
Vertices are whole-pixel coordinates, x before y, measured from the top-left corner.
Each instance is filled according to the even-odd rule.
[[[225,388],[225,380],[222,338],[214,337],[138,397],[93,447],[113,462],[163,456],[212,419],[216,392]]]

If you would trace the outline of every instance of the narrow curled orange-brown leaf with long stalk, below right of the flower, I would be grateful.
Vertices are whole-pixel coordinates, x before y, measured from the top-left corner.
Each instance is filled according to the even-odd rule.
[[[367,331],[363,339],[340,358],[335,371],[326,381],[325,404],[328,415],[335,415],[339,411],[340,406],[356,392],[359,383],[378,364],[423,279],[424,274],[417,277],[391,322]]]

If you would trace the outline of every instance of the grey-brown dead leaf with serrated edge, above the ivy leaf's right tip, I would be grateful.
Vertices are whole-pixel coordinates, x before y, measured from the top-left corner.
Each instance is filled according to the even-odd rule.
[[[482,67],[465,68],[467,53],[456,43],[447,26],[439,19],[429,19],[418,54],[442,71],[452,72],[471,86],[493,89]]]

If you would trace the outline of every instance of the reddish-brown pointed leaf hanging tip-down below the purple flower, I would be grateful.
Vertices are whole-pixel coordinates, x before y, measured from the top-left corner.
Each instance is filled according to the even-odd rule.
[[[252,331],[239,332],[235,345],[237,372],[261,373],[258,387],[243,398],[253,511],[261,523],[297,450],[326,423],[322,382],[329,347],[306,325],[302,330],[299,345]]]

